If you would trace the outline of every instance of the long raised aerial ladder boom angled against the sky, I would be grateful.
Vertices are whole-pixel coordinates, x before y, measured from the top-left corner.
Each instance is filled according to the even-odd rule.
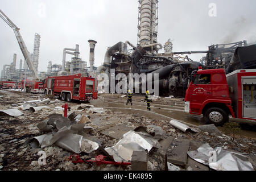
[[[36,80],[38,78],[38,72],[36,71],[34,64],[31,61],[30,53],[28,53],[27,47],[24,43],[24,40],[22,39],[22,36],[20,35],[19,28],[6,16],[2,10],[0,10],[0,17],[11,27],[13,28],[14,34],[16,36],[16,39],[18,40],[19,47],[22,51],[22,54],[24,56],[24,59],[27,62],[28,68],[30,68],[30,71],[32,73],[32,77]]]

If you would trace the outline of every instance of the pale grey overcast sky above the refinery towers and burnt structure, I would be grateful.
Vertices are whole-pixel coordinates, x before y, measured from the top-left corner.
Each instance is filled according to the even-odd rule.
[[[210,3],[217,5],[217,16],[209,16]],[[158,42],[164,44],[170,38],[174,51],[255,42],[255,7],[255,0],[159,0]],[[89,67],[89,39],[98,42],[96,67],[103,63],[107,47],[126,40],[137,44],[138,0],[1,0],[0,9],[20,28],[28,51],[33,52],[35,32],[41,35],[39,71],[47,70],[48,61],[61,64],[63,48],[76,44]],[[14,32],[2,19],[0,32],[0,70],[12,62],[13,53],[18,69],[24,57]],[[189,57],[199,61],[201,56]],[[71,57],[67,55],[67,60]]]

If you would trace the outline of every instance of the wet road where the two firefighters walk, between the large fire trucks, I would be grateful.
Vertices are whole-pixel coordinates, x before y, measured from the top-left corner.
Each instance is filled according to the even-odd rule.
[[[140,111],[133,111],[129,110],[131,109],[139,109],[139,110],[147,110],[146,103],[143,102],[144,97],[143,96],[135,96],[133,97],[133,106],[126,105],[126,97],[122,98],[120,94],[102,94],[98,100],[96,101],[90,101],[91,104],[97,106],[97,107],[105,107],[110,109],[111,107],[117,107],[117,108],[126,108],[122,112],[125,112],[126,114],[134,114],[134,113],[140,113]],[[113,109],[110,109],[113,110]],[[118,109],[115,109],[117,111]],[[203,115],[192,115],[189,113],[185,113],[184,111],[184,101],[182,98],[160,98],[159,100],[153,101],[151,104],[151,112],[152,113],[158,113],[165,115],[167,117],[170,117],[172,119],[177,119],[179,121],[183,121],[185,123],[200,126],[204,125],[203,121]],[[148,115],[148,113],[147,113]],[[151,117],[154,114],[151,114]],[[157,116],[159,117],[159,116]],[[255,121],[246,121],[243,119],[234,119],[230,118],[230,121],[236,121],[238,123],[241,123],[242,131],[241,135],[255,138],[256,139],[256,122]],[[223,131],[222,127],[218,127],[219,130]]]

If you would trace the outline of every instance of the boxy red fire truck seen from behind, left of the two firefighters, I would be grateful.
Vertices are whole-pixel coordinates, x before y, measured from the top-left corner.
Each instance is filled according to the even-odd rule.
[[[44,80],[44,94],[59,96],[61,100],[97,100],[97,80],[80,74],[52,76]]]

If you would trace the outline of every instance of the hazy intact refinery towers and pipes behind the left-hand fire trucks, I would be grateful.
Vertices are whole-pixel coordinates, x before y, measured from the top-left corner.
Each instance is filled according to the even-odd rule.
[[[38,73],[38,78],[43,80],[48,76],[57,76],[61,73],[65,72],[68,75],[74,75],[77,73],[88,74],[92,77],[97,77],[96,71],[97,67],[94,67],[94,48],[97,43],[94,40],[89,40],[90,44],[90,66],[87,66],[87,62],[83,61],[79,57],[79,45],[76,45],[76,48],[64,48],[63,51],[63,64],[52,64],[53,61],[48,62],[47,71]],[[30,59],[35,67],[36,72],[38,72],[39,65],[39,48],[40,48],[40,35],[35,34],[34,41],[34,52],[28,52],[30,55]],[[73,52],[71,52],[73,51]],[[70,61],[65,61],[66,54],[74,55]],[[31,77],[31,71],[28,68],[27,62],[20,60],[19,69],[16,69],[16,54],[13,56],[13,62],[10,65],[4,65],[1,72],[1,81],[12,80],[19,82],[23,80],[25,77]]]

